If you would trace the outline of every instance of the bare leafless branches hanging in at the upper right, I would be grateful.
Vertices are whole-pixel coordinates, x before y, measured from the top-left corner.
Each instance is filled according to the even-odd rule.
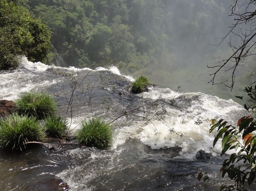
[[[234,17],[234,23],[226,36],[217,45],[219,46],[223,41],[226,41],[232,50],[232,54],[220,61],[219,65],[208,66],[216,69],[212,74],[212,79],[209,83],[223,84],[234,87],[235,74],[239,66],[242,66],[246,58],[255,55],[256,48],[256,1],[255,0],[232,0],[230,5],[231,17]],[[220,82],[215,82],[216,75],[221,71],[230,72],[228,79]]]

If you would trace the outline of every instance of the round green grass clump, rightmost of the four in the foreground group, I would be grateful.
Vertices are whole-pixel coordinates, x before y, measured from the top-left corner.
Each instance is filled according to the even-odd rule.
[[[112,141],[111,125],[102,121],[101,118],[91,118],[81,123],[75,139],[85,146],[107,147]]]

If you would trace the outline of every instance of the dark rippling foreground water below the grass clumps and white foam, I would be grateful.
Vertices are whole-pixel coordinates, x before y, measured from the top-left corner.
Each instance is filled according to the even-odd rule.
[[[1,191],[44,191],[62,179],[71,191],[218,191],[220,183],[198,182],[201,169],[218,175],[220,157],[185,159],[181,147],[153,150],[136,139],[116,149],[34,145],[26,153],[0,152]]]

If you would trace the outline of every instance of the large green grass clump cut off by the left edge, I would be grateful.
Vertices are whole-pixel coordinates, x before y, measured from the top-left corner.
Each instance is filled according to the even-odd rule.
[[[44,137],[36,117],[13,113],[0,119],[1,147],[24,150],[28,141],[40,141]]]

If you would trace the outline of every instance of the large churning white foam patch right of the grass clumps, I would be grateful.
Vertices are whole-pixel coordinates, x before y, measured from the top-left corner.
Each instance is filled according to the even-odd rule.
[[[180,98],[181,96],[182,98]],[[127,139],[139,139],[151,149],[166,149],[181,147],[181,157],[193,159],[199,150],[211,152],[214,155],[221,152],[221,141],[213,148],[213,140],[216,132],[209,134],[210,119],[223,118],[235,125],[237,120],[246,114],[246,110],[232,100],[223,100],[216,96],[204,93],[176,93],[169,89],[156,89],[144,92],[143,97],[161,99],[177,98],[192,100],[186,109],[187,114],[182,114],[178,109],[167,108],[166,123],[153,121],[153,124],[145,125],[136,121],[129,127],[116,130],[116,138],[112,148],[123,144]],[[200,123],[196,123],[200,120]],[[151,121],[152,122],[152,121]],[[170,133],[172,130],[177,132]]]

